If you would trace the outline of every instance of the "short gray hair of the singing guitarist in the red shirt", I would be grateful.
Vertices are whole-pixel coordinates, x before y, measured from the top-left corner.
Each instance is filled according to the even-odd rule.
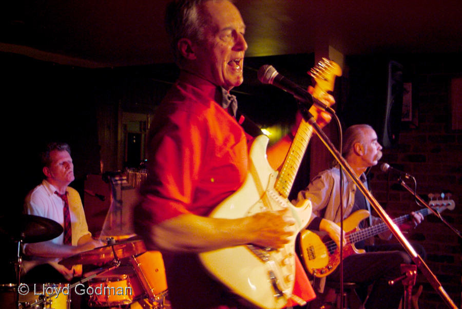
[[[165,12],[165,29],[170,36],[171,49],[175,61],[181,65],[182,57],[178,50],[178,41],[181,38],[190,40],[204,40],[204,28],[208,23],[206,14],[201,6],[208,1],[225,0],[175,0],[167,5]]]

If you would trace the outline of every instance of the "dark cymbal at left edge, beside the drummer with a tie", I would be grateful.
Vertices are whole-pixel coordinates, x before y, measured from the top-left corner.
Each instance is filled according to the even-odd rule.
[[[63,227],[48,218],[33,215],[0,216],[0,238],[34,243],[56,238]]]

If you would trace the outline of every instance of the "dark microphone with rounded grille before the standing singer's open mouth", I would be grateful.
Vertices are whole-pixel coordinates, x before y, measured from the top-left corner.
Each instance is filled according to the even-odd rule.
[[[296,100],[310,104],[310,107],[315,104],[322,110],[328,108],[328,106],[319,102],[319,100],[313,99],[313,95],[311,95],[310,92],[279,74],[278,71],[276,71],[276,69],[271,65],[265,64],[261,66],[257,72],[257,76],[258,80],[263,84],[271,84],[281,88],[282,90],[292,94]]]

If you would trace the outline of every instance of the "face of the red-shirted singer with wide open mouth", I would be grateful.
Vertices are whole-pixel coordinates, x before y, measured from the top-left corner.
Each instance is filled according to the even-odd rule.
[[[207,1],[203,6],[208,26],[205,40],[196,44],[197,73],[230,90],[244,81],[245,25],[238,9],[228,1]]]

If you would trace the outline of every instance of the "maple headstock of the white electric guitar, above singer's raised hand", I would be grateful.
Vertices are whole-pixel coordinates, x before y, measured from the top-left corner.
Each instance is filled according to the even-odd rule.
[[[335,62],[322,58],[322,60],[310,70],[309,74],[316,82],[315,93],[320,91],[328,92],[334,90],[335,76],[341,76],[342,69]]]

